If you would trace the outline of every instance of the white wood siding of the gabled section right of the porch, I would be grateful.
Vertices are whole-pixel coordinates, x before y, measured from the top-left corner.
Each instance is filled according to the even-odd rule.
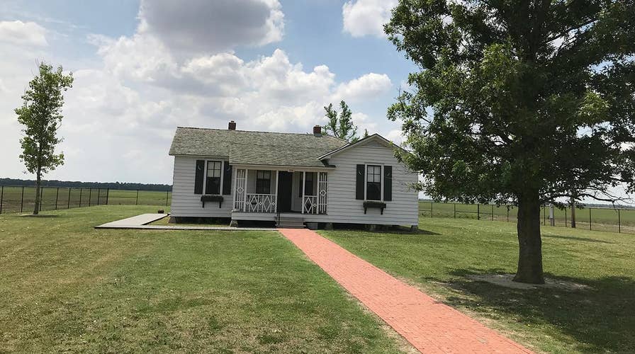
[[[336,154],[329,162],[335,165],[335,171],[328,177],[328,205],[324,217],[329,222],[419,224],[418,193],[410,188],[417,182],[417,173],[400,164],[392,149],[371,141]],[[393,166],[393,200],[386,201],[383,215],[378,209],[369,209],[364,214],[364,200],[355,199],[357,164]],[[383,182],[383,176],[381,178]]]

